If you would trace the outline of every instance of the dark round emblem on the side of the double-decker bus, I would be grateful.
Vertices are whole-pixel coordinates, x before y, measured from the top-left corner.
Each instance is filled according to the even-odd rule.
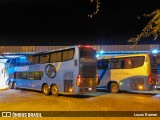
[[[52,65],[52,64],[48,64],[45,68],[45,72],[46,72],[46,75],[49,77],[49,78],[55,78],[56,77],[56,68]]]

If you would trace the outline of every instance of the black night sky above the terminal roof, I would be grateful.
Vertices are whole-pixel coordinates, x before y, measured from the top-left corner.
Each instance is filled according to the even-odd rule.
[[[141,32],[160,0],[0,0],[0,45],[116,45]],[[160,38],[139,44],[157,44]]]

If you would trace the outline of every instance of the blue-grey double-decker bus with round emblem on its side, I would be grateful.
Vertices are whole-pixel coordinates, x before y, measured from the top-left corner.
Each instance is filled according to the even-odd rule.
[[[95,92],[98,84],[96,50],[90,46],[71,46],[36,53],[31,63],[12,68],[12,88],[42,91],[57,96]]]

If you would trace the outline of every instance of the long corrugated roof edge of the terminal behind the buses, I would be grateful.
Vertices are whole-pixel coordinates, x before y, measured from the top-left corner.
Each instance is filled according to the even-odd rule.
[[[0,55],[5,52],[44,52],[68,46],[0,46]],[[97,51],[149,51],[160,49],[158,44],[150,45],[92,45]]]

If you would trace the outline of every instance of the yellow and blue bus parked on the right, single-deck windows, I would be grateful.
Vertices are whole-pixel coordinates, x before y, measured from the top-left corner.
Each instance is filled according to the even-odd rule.
[[[156,57],[158,55],[150,53],[99,57],[98,88],[106,88],[112,93],[153,90],[158,84]]]

